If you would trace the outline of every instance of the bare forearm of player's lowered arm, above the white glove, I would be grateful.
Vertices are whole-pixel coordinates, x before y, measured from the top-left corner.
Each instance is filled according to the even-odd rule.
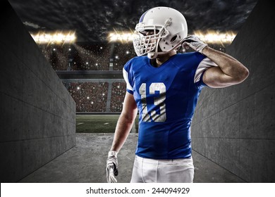
[[[120,151],[121,147],[123,146],[124,142],[126,141],[130,129],[133,126],[133,122],[135,121],[136,113],[133,113],[133,115],[127,115],[124,113],[121,113],[121,116],[118,119],[118,122],[116,124],[116,131],[114,134],[114,141],[111,146],[111,151]]]

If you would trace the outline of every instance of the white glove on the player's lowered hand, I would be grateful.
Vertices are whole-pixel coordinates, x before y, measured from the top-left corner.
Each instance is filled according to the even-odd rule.
[[[106,165],[106,177],[108,183],[116,183],[115,176],[118,175],[118,152],[109,151]]]

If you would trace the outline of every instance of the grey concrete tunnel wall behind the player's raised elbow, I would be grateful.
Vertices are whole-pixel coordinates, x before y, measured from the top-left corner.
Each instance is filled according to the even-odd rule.
[[[246,182],[275,182],[275,13],[259,1],[227,53],[249,70],[242,84],[204,88],[193,149]]]

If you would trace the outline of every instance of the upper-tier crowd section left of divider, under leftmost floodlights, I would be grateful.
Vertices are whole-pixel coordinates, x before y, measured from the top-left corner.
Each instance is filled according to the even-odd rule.
[[[109,70],[111,44],[39,44],[54,70]]]

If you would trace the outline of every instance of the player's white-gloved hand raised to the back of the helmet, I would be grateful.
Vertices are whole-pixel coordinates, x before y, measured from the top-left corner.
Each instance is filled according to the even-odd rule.
[[[185,37],[185,39],[183,39],[183,49],[188,49],[188,46],[194,49],[195,51],[202,53],[202,49],[204,49],[204,47],[207,46],[207,44],[202,42],[199,39],[199,37],[195,35],[190,35],[188,37]]]

